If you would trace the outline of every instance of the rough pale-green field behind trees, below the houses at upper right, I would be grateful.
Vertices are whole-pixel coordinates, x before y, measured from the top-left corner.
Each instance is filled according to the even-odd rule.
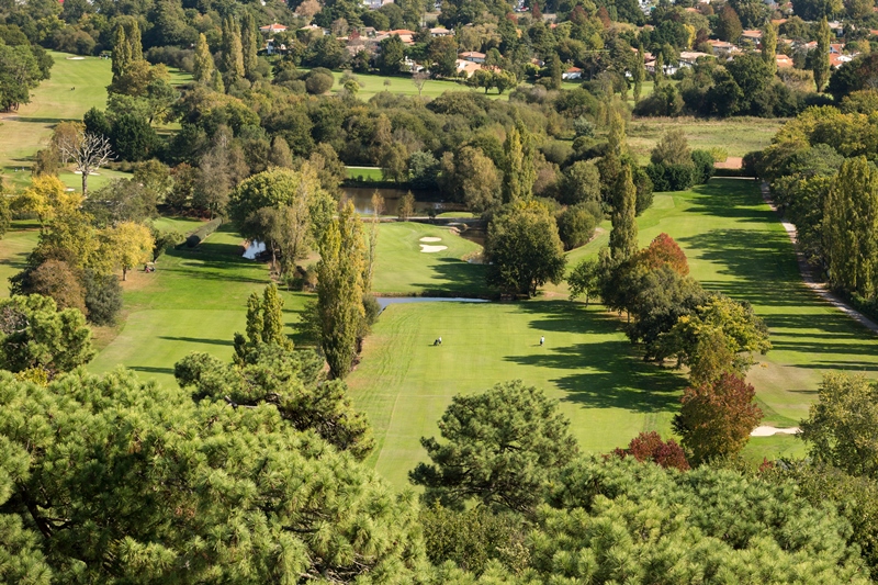
[[[768,146],[783,123],[783,120],[763,117],[638,117],[628,125],[628,146],[645,165],[650,159],[650,150],[665,132],[680,128],[691,148],[724,148],[729,156],[743,157]]]

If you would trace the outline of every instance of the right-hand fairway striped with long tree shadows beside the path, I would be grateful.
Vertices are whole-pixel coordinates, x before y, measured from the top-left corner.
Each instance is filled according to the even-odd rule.
[[[686,252],[694,278],[748,301],[765,319],[774,349],[757,357],[748,381],[766,424],[793,426],[806,417],[824,371],[878,375],[878,336],[802,284],[792,245],[754,181],[713,179],[689,192],[656,195],[639,225],[641,246],[669,234]],[[571,265],[596,255],[608,237],[604,233],[574,250]]]

